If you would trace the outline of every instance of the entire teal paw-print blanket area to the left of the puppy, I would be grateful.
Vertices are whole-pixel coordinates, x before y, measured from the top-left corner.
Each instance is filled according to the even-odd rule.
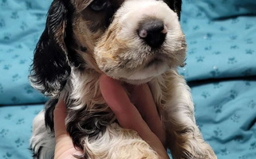
[[[52,0],[0,0],[0,158],[31,158],[34,116],[47,99],[29,83],[33,49]],[[30,106],[18,104],[27,104]],[[6,146],[7,145],[7,146]]]

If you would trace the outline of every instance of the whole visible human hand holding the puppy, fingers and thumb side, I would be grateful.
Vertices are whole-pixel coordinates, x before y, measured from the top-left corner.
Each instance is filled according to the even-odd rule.
[[[126,87],[131,94],[131,99],[128,98],[124,87],[117,80],[104,75],[100,77],[100,91],[116,114],[120,125],[124,128],[136,130],[140,137],[148,142],[156,153],[159,153],[160,158],[168,158],[163,147],[165,144],[163,125],[148,84],[128,85]],[[131,100],[132,103],[136,104],[136,107],[133,106]],[[54,159],[75,159],[74,155],[82,156],[82,150],[73,146],[72,138],[66,131],[66,108],[63,100],[58,101],[53,114],[56,138]]]

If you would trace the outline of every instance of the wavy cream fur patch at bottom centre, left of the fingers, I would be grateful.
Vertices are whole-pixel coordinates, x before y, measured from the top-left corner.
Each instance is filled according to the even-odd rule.
[[[158,159],[157,153],[134,130],[113,123],[99,138],[85,138],[85,152],[97,159]]]

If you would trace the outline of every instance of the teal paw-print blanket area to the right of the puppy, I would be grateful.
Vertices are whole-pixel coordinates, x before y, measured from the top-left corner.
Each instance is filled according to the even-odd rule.
[[[223,5],[235,1],[183,2],[188,50],[179,71],[191,86],[203,137],[219,159],[255,159],[256,16],[227,13],[232,6]]]

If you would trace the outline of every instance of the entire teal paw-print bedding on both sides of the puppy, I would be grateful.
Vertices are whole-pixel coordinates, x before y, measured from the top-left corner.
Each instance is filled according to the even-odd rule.
[[[30,87],[33,49],[51,0],[0,1],[0,158],[32,158],[34,116],[47,100]],[[219,159],[256,158],[256,2],[183,0],[187,65],[179,68],[203,138]]]

